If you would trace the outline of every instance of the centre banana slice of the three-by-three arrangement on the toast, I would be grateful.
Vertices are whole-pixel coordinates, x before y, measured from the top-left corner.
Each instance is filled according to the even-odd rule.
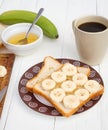
[[[71,80],[67,80],[61,84],[61,88],[67,93],[73,92],[76,89],[76,84]]]

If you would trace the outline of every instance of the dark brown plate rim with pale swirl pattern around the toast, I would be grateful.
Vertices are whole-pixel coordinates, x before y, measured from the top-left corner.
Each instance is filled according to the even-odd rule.
[[[74,60],[74,59],[59,58],[57,60],[59,62],[61,62],[62,64],[69,62],[69,63],[72,63],[75,66],[84,66],[84,67],[90,68],[91,73],[90,73],[88,78],[94,79],[104,86],[104,83],[103,83],[103,80],[102,80],[100,74],[94,68],[92,68],[91,66],[89,66],[89,65],[87,65],[87,64],[85,64],[81,61]],[[45,115],[61,116],[61,114],[54,107],[50,107],[50,106],[47,106],[47,105],[41,103],[40,101],[38,101],[35,98],[33,93],[28,92],[26,90],[25,85],[26,85],[27,81],[38,74],[42,65],[43,65],[43,62],[39,62],[39,63],[33,65],[32,67],[30,67],[28,70],[25,71],[25,73],[22,75],[22,77],[19,81],[19,85],[18,85],[19,95],[20,95],[22,101],[29,108],[31,108],[31,109],[39,112],[39,113],[45,114]],[[90,109],[100,100],[100,98],[101,98],[101,96],[98,96],[94,99],[91,99],[88,103],[86,103],[84,106],[82,106],[75,114],[79,114],[79,113],[82,113],[82,112]]]

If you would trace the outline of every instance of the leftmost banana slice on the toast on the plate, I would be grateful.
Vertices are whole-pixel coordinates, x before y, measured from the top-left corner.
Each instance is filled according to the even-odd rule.
[[[45,79],[42,81],[42,88],[44,90],[51,90],[55,87],[56,82],[52,79]]]

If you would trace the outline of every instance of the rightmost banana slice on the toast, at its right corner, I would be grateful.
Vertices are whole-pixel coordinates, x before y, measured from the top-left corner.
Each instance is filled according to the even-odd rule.
[[[95,93],[100,89],[100,84],[95,80],[88,80],[84,85],[85,89],[87,89],[90,93]]]

